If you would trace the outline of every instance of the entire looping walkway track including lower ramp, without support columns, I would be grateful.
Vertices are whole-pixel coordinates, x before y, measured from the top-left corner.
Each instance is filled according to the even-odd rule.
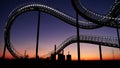
[[[120,28],[120,23],[118,18],[118,15],[120,13],[120,1],[116,0],[111,7],[109,13],[106,16],[94,13],[87,8],[85,8],[81,4],[81,0],[71,0],[72,5],[75,8],[75,10],[87,19],[90,22],[85,22],[79,20],[79,28],[83,29],[95,29],[100,28],[102,26],[108,26],[112,28]],[[10,30],[12,27],[12,24],[14,20],[21,15],[22,13],[28,12],[28,11],[40,11],[47,14],[50,14],[54,17],[57,17],[58,19],[64,21],[67,24],[70,24],[72,26],[76,27],[76,18],[73,18],[72,16],[69,16],[57,9],[54,9],[52,7],[49,7],[47,5],[39,4],[39,3],[29,3],[21,5],[17,8],[15,8],[8,16],[7,25],[4,32],[4,39],[5,39],[5,46],[7,47],[8,51],[11,53],[11,55],[14,58],[20,58],[21,56],[15,50],[15,48],[12,46],[12,43],[10,41]],[[72,36],[68,39],[66,39],[60,46],[57,48],[57,53],[59,53],[62,49],[64,49],[69,44],[72,44],[76,42],[76,36]],[[114,37],[101,37],[101,36],[88,36],[88,35],[80,35],[80,42],[85,43],[92,43],[92,44],[102,44],[104,46],[110,46],[110,47],[116,47],[119,48],[118,45],[118,39]],[[51,52],[52,53],[52,52]]]

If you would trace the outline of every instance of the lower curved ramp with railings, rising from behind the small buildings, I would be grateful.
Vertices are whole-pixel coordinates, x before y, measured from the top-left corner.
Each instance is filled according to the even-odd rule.
[[[77,36],[71,36],[64,40],[59,46],[56,48],[56,54],[59,54],[64,48],[69,46],[70,44],[77,42]],[[95,35],[80,35],[81,43],[90,43],[90,44],[97,44],[102,46],[108,46],[108,47],[114,47],[114,48],[120,48],[118,45],[118,39],[117,37],[110,37],[110,36],[95,36]],[[51,54],[55,54],[55,51],[51,51],[46,55],[43,55],[43,58],[50,57]]]

